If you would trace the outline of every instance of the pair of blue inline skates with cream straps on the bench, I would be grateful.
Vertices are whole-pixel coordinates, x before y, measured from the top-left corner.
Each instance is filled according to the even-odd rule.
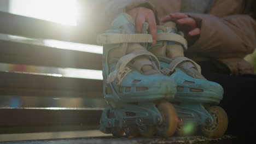
[[[225,111],[216,106],[223,88],[207,81],[200,66],[184,57],[187,41],[175,23],[158,26],[158,41],[144,23],[137,34],[128,14],[120,14],[106,33],[103,45],[103,93],[108,106],[100,130],[114,136],[194,135],[199,128],[219,137],[228,127]]]

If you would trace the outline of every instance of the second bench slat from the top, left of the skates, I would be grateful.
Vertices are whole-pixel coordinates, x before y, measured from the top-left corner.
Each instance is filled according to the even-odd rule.
[[[102,55],[0,40],[0,62],[48,67],[102,69]]]

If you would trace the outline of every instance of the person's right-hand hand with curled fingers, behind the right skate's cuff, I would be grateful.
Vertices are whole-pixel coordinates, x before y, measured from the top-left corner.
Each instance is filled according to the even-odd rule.
[[[197,26],[196,21],[184,13],[171,13],[164,17],[160,17],[161,22],[173,21],[177,23],[177,27],[184,33],[185,39],[188,40],[189,45],[194,43],[201,31]]]

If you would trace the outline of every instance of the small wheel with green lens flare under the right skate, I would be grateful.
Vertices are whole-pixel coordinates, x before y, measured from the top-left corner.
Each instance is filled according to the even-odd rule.
[[[197,126],[193,122],[185,122],[178,124],[176,134],[178,136],[192,136],[196,133]]]

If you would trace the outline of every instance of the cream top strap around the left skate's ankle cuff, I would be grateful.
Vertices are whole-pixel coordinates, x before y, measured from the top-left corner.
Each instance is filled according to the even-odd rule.
[[[99,45],[120,44],[120,43],[152,43],[152,35],[151,34],[103,33],[98,35],[97,43]]]

